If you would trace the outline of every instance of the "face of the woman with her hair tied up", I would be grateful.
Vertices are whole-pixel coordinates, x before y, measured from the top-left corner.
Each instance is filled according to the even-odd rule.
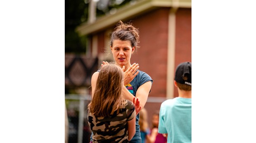
[[[113,40],[111,52],[113,53],[116,64],[120,67],[130,67],[130,58],[134,49],[135,47],[131,46],[129,40]]]

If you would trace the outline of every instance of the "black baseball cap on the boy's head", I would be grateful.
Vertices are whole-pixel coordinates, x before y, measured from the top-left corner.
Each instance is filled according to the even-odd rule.
[[[183,76],[185,76],[185,75],[187,75],[186,81],[183,79]],[[182,62],[177,66],[176,71],[175,71],[174,80],[177,83],[192,86],[192,84],[191,84],[191,62]]]

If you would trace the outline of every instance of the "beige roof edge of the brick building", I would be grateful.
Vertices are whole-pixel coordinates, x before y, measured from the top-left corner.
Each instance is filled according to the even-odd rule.
[[[152,10],[157,7],[181,7],[181,8],[191,8],[191,0],[141,0],[136,1],[136,3],[131,3],[124,7],[117,9],[114,14],[106,14],[98,18],[93,23],[82,23],[76,28],[76,32],[80,36],[88,35],[93,32],[97,32],[106,27],[117,23],[119,20],[124,20],[129,17],[135,16]]]

